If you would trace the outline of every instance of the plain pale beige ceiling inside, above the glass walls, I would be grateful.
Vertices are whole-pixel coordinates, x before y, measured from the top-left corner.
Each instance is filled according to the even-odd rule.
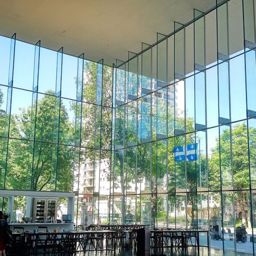
[[[112,65],[193,19],[216,0],[0,0],[0,34]]]

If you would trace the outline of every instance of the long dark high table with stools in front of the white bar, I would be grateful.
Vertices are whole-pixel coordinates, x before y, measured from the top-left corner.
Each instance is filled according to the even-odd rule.
[[[24,247],[20,253],[36,254],[41,250],[44,254],[77,253],[90,251],[113,251],[115,255],[116,231],[114,230],[84,230],[57,232],[24,232],[13,233],[13,246],[22,241]]]

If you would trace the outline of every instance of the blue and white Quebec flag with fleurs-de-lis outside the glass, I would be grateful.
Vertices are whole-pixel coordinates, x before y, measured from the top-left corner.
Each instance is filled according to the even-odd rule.
[[[196,161],[197,157],[197,144],[187,145],[187,161]],[[176,146],[173,149],[175,162],[185,161],[185,146]]]

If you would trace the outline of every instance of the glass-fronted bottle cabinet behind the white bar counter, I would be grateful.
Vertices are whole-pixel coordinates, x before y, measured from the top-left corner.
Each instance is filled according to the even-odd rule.
[[[57,198],[34,198],[33,222],[53,223],[57,216]]]

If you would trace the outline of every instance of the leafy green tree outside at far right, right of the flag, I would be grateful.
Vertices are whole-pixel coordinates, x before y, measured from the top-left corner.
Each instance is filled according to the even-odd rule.
[[[209,159],[209,185],[212,188],[218,187],[219,180],[222,178],[222,183],[225,185],[226,177],[233,177],[230,183],[234,189],[249,188],[249,164],[248,164],[248,140],[247,140],[247,125],[240,123],[231,129],[232,143],[232,168],[230,160],[230,130],[223,130],[220,139],[217,139],[216,147],[212,150]],[[251,165],[256,162],[256,129],[249,127],[249,143],[250,143],[250,162]],[[220,150],[219,150],[220,148]],[[221,156],[220,156],[221,153]],[[221,157],[221,168],[220,160]],[[220,175],[220,170],[222,176]],[[232,173],[231,173],[232,172]],[[232,175],[231,175],[232,174]],[[216,185],[217,184],[217,185]],[[247,222],[250,227],[250,200],[247,191],[238,191],[234,193],[236,207],[241,208],[242,221]],[[223,196],[224,200],[224,196]],[[230,200],[229,200],[230,201]],[[246,216],[247,211],[247,216]]]

